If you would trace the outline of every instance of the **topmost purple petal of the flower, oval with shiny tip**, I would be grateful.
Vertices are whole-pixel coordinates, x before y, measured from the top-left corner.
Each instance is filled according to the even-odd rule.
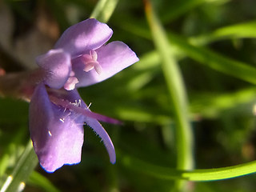
[[[86,51],[98,49],[112,36],[113,31],[105,23],[88,18],[64,31],[55,44],[72,55],[72,58]]]

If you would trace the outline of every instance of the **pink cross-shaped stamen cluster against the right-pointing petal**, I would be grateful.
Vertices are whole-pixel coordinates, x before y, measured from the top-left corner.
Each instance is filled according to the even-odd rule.
[[[98,54],[95,50],[90,50],[89,54],[82,55],[82,62],[85,64],[84,71],[96,70],[98,74],[102,73],[102,66],[97,61]]]

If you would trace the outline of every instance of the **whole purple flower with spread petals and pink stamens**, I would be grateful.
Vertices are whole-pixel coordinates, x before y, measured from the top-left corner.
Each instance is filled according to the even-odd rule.
[[[123,42],[105,45],[112,33],[109,26],[90,18],[70,26],[53,50],[37,58],[44,78],[30,101],[30,135],[39,162],[48,172],[81,161],[85,123],[102,138],[110,162],[115,162],[114,145],[98,120],[118,121],[91,112],[76,90],[138,62]]]

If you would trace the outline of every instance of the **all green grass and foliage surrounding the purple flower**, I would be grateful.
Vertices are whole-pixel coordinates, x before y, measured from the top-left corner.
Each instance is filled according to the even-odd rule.
[[[124,122],[104,124],[117,150],[114,166],[85,127],[80,164],[54,174],[34,169],[29,103],[1,98],[1,192],[25,183],[24,191],[171,191],[185,184],[191,191],[254,191],[256,2],[5,2],[16,30],[33,25],[38,10],[60,31],[85,18],[109,21],[111,40],[126,42],[140,61],[79,90],[91,110]],[[17,33],[26,38],[27,30]],[[10,55],[2,46],[0,52],[0,62]]]

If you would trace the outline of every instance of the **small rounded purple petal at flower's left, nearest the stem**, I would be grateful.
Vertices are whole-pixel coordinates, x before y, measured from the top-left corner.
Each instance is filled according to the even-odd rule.
[[[46,85],[60,89],[70,77],[71,59],[70,54],[64,50],[50,50],[36,59],[38,66],[46,70]]]

